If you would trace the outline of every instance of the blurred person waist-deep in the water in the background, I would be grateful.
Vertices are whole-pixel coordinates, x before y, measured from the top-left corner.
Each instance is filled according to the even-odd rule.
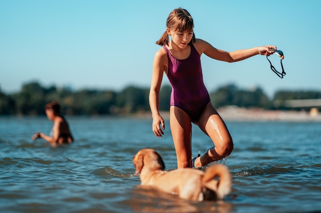
[[[72,143],[73,137],[65,117],[60,114],[60,105],[53,101],[47,104],[45,109],[48,119],[53,121],[52,135],[48,136],[42,132],[36,132],[32,139],[44,138],[52,146]]]

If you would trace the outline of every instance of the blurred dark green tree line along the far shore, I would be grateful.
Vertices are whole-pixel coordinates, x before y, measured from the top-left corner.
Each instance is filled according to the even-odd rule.
[[[159,110],[168,111],[171,86],[163,85],[159,94]],[[45,105],[51,101],[61,104],[62,112],[68,115],[116,115],[147,112],[149,88],[127,86],[121,91],[81,89],[72,91],[56,86],[44,87],[38,82],[29,82],[15,93],[6,94],[0,89],[1,115],[42,115]],[[262,88],[252,90],[228,84],[210,92],[214,107],[234,105],[244,108],[283,109],[289,108],[273,103],[285,100],[321,99],[321,91],[280,90],[269,99]],[[296,110],[301,110],[297,108]]]

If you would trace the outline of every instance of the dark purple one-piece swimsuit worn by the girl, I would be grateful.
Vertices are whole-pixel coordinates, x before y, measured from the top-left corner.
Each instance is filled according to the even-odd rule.
[[[184,110],[192,122],[196,122],[210,102],[209,93],[203,82],[200,56],[193,45],[186,59],[176,59],[166,46],[168,56],[167,77],[172,85],[171,106]]]

